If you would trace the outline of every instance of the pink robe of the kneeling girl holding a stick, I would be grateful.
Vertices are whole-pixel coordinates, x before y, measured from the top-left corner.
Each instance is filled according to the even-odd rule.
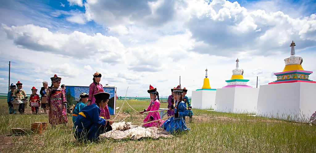
[[[157,110],[159,110],[159,107],[160,107],[160,102],[156,98],[155,100],[151,100],[150,101],[150,105],[146,109],[146,112],[157,111]],[[147,122],[147,120],[150,118],[150,116],[152,116],[154,118],[151,121],[160,119],[159,112],[150,112],[150,113],[148,113],[148,115],[144,119],[144,123]],[[163,122],[165,122],[165,121],[164,120],[160,120],[160,121],[157,121],[157,122],[151,122],[151,123],[148,123],[148,124],[144,124],[144,126],[145,127],[153,127],[153,126],[160,127],[163,124]]]

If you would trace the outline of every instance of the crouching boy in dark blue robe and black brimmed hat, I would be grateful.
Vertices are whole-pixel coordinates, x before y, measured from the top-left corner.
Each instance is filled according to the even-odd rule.
[[[96,99],[95,103],[82,108],[74,122],[74,136],[77,140],[99,140],[100,134],[112,130],[111,125],[114,121],[107,121],[99,117],[100,108],[106,107],[109,96],[110,94],[106,92],[97,93],[94,95]]]

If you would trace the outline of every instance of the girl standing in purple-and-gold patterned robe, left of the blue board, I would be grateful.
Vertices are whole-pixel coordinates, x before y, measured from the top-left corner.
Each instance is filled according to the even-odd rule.
[[[47,90],[47,103],[48,105],[48,117],[49,123],[52,126],[58,124],[66,124],[67,114],[66,114],[66,104],[64,89],[59,88],[61,78],[56,74],[51,77],[52,86],[51,89]]]

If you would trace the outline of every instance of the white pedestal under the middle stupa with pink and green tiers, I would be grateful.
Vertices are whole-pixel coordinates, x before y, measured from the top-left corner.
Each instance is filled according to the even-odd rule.
[[[216,89],[216,112],[255,113],[258,102],[258,88],[221,88]]]

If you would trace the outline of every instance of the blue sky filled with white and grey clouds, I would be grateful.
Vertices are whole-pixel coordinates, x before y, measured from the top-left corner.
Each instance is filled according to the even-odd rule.
[[[295,41],[302,67],[316,72],[315,0],[0,0],[0,93],[10,83],[115,85],[117,94],[160,96],[179,85],[226,86],[239,59],[247,85],[276,81]],[[310,80],[316,80],[311,74]]]

